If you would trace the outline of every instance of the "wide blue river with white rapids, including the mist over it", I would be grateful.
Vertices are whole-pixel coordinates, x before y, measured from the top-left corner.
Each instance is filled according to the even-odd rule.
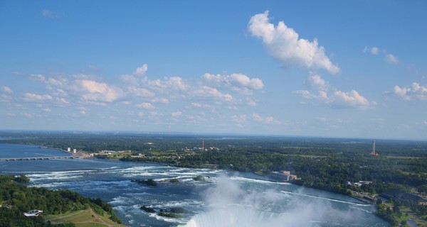
[[[60,150],[0,144],[0,158],[66,156]],[[186,169],[100,159],[0,162],[1,174],[25,174],[33,187],[72,189],[108,201],[128,226],[389,226],[374,216],[374,207],[349,196],[270,182],[250,173]],[[192,179],[203,175],[204,182]],[[254,179],[258,178],[258,179]],[[147,187],[131,179],[155,179]],[[178,179],[178,184],[169,182]],[[157,211],[179,207],[183,218]]]

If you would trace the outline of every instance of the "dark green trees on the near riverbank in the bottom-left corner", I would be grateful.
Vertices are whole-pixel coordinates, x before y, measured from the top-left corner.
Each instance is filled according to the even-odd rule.
[[[108,214],[112,221],[121,223],[110,204],[101,199],[89,199],[67,189],[51,190],[43,187],[27,187],[24,176],[0,175],[0,226],[75,226],[73,223],[51,224],[43,218],[47,214],[63,214],[91,208],[95,213]],[[24,212],[41,210],[43,215],[25,217]]]

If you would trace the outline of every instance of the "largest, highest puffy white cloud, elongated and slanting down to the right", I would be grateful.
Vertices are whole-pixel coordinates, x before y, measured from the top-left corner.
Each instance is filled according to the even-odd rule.
[[[325,55],[325,48],[319,46],[317,39],[299,38],[292,28],[283,21],[274,26],[268,18],[268,11],[252,16],[248,24],[251,35],[261,38],[270,55],[283,62],[285,66],[300,65],[302,67],[322,68],[332,74],[338,73],[339,67],[332,64]]]

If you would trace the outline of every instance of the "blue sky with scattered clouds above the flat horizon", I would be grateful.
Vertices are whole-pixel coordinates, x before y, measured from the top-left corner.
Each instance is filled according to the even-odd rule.
[[[0,1],[0,129],[427,139],[426,1]]]

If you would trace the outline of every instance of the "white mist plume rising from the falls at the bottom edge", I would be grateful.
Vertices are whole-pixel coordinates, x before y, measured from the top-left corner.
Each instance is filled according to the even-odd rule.
[[[329,201],[297,204],[290,195],[273,190],[247,192],[227,177],[206,191],[206,211],[186,223],[190,227],[318,226]],[[330,205],[329,205],[330,206]]]

